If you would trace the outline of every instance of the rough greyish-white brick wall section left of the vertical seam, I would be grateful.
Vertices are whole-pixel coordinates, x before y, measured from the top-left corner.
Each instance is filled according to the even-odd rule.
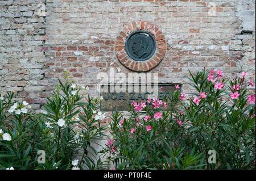
[[[43,97],[42,91],[48,89],[44,79],[46,24],[37,13],[44,3],[0,1],[0,92],[15,91],[27,99]]]

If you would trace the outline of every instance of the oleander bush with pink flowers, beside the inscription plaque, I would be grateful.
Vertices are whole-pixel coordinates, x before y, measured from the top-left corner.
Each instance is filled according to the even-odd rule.
[[[113,169],[255,169],[254,83],[246,73],[229,81],[220,70],[190,74],[195,94],[176,85],[163,100],[132,102],[129,116],[112,113],[102,153]]]

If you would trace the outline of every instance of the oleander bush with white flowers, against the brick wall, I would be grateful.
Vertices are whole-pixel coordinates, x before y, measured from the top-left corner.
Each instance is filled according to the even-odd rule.
[[[39,114],[11,92],[0,95],[0,169],[103,169],[92,144],[104,136],[105,115],[99,98],[82,101],[86,89],[66,74]]]

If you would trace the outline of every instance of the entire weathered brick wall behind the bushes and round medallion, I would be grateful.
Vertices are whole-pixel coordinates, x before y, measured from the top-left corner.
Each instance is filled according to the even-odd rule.
[[[38,3],[46,4],[46,17],[35,13]],[[204,67],[227,76],[249,71],[255,81],[253,0],[17,0],[0,1],[0,12],[0,91],[18,91],[35,108],[63,70],[91,94],[98,72],[131,72],[114,43],[124,24],[139,20],[166,37],[166,56],[151,70],[160,82],[185,83],[188,69]]]

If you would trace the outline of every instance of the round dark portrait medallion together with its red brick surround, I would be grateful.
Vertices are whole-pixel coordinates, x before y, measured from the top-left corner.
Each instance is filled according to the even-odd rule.
[[[146,21],[126,24],[115,41],[119,62],[139,72],[154,69],[163,60],[166,48],[160,28]]]

